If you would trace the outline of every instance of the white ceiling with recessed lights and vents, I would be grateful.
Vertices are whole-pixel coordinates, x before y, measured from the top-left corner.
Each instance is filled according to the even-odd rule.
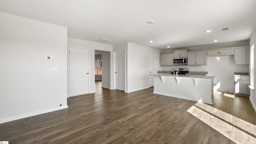
[[[76,39],[155,49],[248,40],[256,28],[256,0],[0,0],[0,11],[68,27]]]

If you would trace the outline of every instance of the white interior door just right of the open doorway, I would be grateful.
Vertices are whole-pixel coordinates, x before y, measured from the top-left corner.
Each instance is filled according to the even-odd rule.
[[[125,51],[115,53],[115,87],[116,90],[125,90]]]

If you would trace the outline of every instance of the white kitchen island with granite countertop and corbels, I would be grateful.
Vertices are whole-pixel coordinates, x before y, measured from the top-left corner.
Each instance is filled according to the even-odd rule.
[[[154,92],[192,101],[212,104],[213,78],[215,76],[152,74]]]

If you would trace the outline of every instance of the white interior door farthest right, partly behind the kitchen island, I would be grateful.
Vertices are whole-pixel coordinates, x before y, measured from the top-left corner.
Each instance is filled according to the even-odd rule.
[[[149,74],[157,74],[157,54],[149,54]],[[149,87],[154,86],[154,76],[149,76]]]

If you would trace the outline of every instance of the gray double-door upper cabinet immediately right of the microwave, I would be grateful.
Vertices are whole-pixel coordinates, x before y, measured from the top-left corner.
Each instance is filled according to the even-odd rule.
[[[207,64],[206,51],[188,52],[188,65]]]

